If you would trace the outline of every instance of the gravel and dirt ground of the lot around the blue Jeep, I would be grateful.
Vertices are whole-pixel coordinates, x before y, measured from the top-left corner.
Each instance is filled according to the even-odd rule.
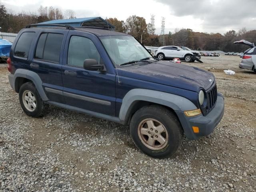
[[[255,192],[256,74],[239,69],[240,60],[190,63],[216,76],[224,118],[162,160],[137,150],[127,126],[54,106],[43,118],[26,116],[0,64],[0,191]]]

